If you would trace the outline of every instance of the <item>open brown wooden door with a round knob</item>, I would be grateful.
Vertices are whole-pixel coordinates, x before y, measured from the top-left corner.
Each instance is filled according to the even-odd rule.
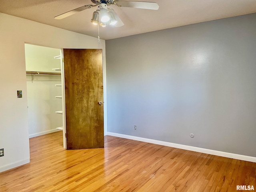
[[[103,148],[102,50],[64,49],[63,54],[67,149]]]

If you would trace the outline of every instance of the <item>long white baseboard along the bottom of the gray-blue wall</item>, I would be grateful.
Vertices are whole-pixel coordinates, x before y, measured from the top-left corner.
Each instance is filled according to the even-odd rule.
[[[152,143],[152,144],[158,144],[158,145],[163,145],[163,146],[168,146],[168,147],[174,147],[174,148],[179,148],[179,149],[185,149],[185,150],[189,150],[189,151],[206,153],[206,154],[210,154],[210,155],[216,155],[216,156],[222,156],[222,157],[233,158],[233,159],[238,159],[238,160],[256,162],[256,157],[252,157],[252,156],[245,156],[245,155],[216,151],[216,150],[211,150],[211,149],[204,149],[204,148],[199,148],[199,147],[170,143],[170,142],[165,142],[165,141],[158,141],[158,140],[154,140],[154,139],[147,139],[147,138],[124,135],[124,134],[119,134],[119,133],[107,132],[107,135],[136,140],[136,141],[142,141],[142,142],[147,142],[147,143]]]

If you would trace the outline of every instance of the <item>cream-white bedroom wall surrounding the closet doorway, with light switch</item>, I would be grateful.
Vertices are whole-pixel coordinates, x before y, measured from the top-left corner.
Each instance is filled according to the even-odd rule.
[[[98,48],[98,39],[0,13],[0,172],[29,162],[28,102],[24,43],[55,48]],[[95,29],[97,30],[97,29]],[[106,110],[105,41],[103,53]],[[22,90],[23,98],[17,98]],[[106,112],[104,112],[106,125]]]

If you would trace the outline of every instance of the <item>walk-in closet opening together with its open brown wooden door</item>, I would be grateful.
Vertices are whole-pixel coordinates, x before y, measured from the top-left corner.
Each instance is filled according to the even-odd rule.
[[[30,137],[63,132],[66,149],[104,147],[100,49],[25,44]]]

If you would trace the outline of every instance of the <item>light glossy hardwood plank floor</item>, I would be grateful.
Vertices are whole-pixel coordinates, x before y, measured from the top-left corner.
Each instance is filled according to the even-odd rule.
[[[256,163],[105,137],[64,150],[62,132],[30,139],[29,164],[0,173],[1,192],[235,192],[256,188]],[[256,189],[255,189],[256,190]]]

